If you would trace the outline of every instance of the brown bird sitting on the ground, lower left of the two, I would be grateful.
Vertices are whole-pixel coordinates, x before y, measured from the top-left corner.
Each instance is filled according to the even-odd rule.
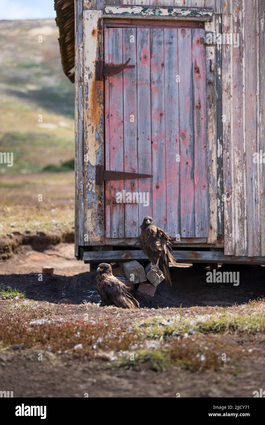
[[[112,274],[110,264],[101,263],[97,268],[97,292],[106,306],[139,309],[138,301],[128,292],[127,286]]]

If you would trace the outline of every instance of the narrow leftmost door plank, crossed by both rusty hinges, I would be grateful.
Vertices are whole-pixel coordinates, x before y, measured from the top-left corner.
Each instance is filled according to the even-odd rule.
[[[104,29],[104,62],[108,59],[108,28]],[[105,77],[105,170],[110,170],[110,142],[109,142],[109,77]],[[111,237],[111,182],[105,181],[105,237]]]

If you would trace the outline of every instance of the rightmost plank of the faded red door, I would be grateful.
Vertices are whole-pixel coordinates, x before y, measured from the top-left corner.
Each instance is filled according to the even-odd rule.
[[[192,35],[192,84],[193,84],[193,126],[194,126],[194,214],[195,237],[207,238],[208,184],[206,144],[206,96],[205,96],[205,45],[200,38],[202,29],[193,29]]]

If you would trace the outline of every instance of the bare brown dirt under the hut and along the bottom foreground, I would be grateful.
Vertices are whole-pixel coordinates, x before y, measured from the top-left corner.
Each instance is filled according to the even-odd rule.
[[[43,275],[43,281],[38,281],[43,266],[54,267],[54,274]],[[0,284],[26,292],[26,299],[37,306],[21,312],[9,309],[16,300],[0,300],[1,318],[9,315],[10,320],[16,320],[26,314],[25,320],[55,317],[77,321],[83,320],[86,312],[91,320],[113,318],[126,327],[158,313],[171,317],[180,312],[180,306],[185,316],[197,317],[219,312],[222,307],[240,308],[249,300],[264,297],[265,267],[222,266],[220,270],[240,272],[240,284],[233,286],[206,283],[205,266],[180,264],[171,269],[173,286],[162,282],[154,298],[134,292],[140,310],[104,309],[84,305],[99,303],[100,297],[95,272],[88,272],[88,265],[74,259],[72,244],[50,246],[43,252],[23,246],[11,260],[0,262]],[[117,269],[116,274],[119,272]],[[139,370],[124,369],[97,357],[88,360],[36,347],[0,346],[0,390],[14,391],[14,397],[84,397],[85,393],[89,397],[176,397],[176,393],[181,397],[253,397],[254,390],[265,388],[265,341],[261,335],[224,338],[231,346],[257,347],[256,354],[251,360],[237,359],[233,368],[202,373],[175,366],[164,371],[145,365]],[[38,360],[40,352],[43,361]]]

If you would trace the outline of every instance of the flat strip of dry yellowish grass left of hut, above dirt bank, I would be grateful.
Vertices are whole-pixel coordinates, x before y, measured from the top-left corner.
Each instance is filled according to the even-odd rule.
[[[74,172],[2,176],[0,217],[0,235],[73,226]]]

